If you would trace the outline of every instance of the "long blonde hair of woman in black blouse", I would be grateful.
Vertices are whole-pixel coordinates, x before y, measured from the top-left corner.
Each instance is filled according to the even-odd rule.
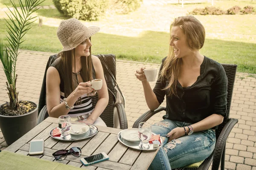
[[[193,49],[201,49],[204,46],[205,40],[205,30],[204,26],[192,15],[177,17],[170,27],[170,32],[172,28],[178,26],[183,31],[186,37],[187,45]],[[172,34],[170,36],[170,41],[172,40]],[[176,58],[173,48],[170,45],[169,54],[166,60],[163,62],[163,68],[160,72],[160,80],[169,81],[169,84],[163,90],[168,90],[168,96],[174,94],[177,96],[177,82],[180,72],[181,58]]]

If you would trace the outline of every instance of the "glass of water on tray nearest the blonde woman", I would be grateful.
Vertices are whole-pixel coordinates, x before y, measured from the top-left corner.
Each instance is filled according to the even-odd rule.
[[[150,147],[149,140],[151,138],[151,125],[147,122],[141,122],[139,124],[138,136],[140,138],[140,149],[148,149]]]

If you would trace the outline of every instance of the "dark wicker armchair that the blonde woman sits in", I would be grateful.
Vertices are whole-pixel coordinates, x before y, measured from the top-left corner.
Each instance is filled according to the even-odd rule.
[[[221,125],[218,125],[218,129],[216,130],[216,144],[215,149],[213,153],[204,160],[204,162],[198,167],[198,168],[177,168],[175,170],[208,170],[210,167],[210,164],[212,163],[212,170],[218,170],[220,164],[221,164],[221,170],[224,170],[224,164],[225,164],[225,149],[226,149],[226,141],[227,137],[230,134],[230,131],[236,125],[238,122],[238,119],[230,119],[230,105],[232,100],[232,94],[233,94],[233,87],[236,77],[236,67],[237,65],[231,65],[231,64],[222,64],[222,66],[225,69],[227,79],[228,79],[228,85],[227,85],[227,116],[224,118],[224,121],[221,123]],[[154,111],[147,111],[142,116],[140,116],[136,122],[134,123],[133,127],[137,128],[139,127],[140,122],[147,121],[151,116],[154,114],[160,112],[160,111],[166,111],[165,107],[159,107]]]

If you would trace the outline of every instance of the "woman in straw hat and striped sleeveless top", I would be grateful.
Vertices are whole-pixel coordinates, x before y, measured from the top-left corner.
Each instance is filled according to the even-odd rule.
[[[108,89],[98,57],[92,56],[90,37],[99,27],[86,27],[79,20],[63,20],[57,30],[63,49],[47,70],[47,111],[58,118],[69,115],[71,120],[106,126],[99,117],[108,105]],[[97,91],[99,100],[93,108],[90,96],[92,79],[102,79]]]

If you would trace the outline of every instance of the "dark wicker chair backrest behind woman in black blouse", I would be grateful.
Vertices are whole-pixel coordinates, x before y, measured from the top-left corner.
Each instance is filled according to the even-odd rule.
[[[227,75],[227,116],[224,118],[224,121],[221,125],[218,125],[218,130],[216,131],[216,139],[218,139],[219,134],[221,133],[221,130],[223,129],[224,125],[227,123],[227,120],[230,116],[230,107],[231,107],[231,101],[232,101],[232,95],[233,95],[233,88],[236,78],[236,68],[237,65],[234,64],[221,64],[226,72]]]

